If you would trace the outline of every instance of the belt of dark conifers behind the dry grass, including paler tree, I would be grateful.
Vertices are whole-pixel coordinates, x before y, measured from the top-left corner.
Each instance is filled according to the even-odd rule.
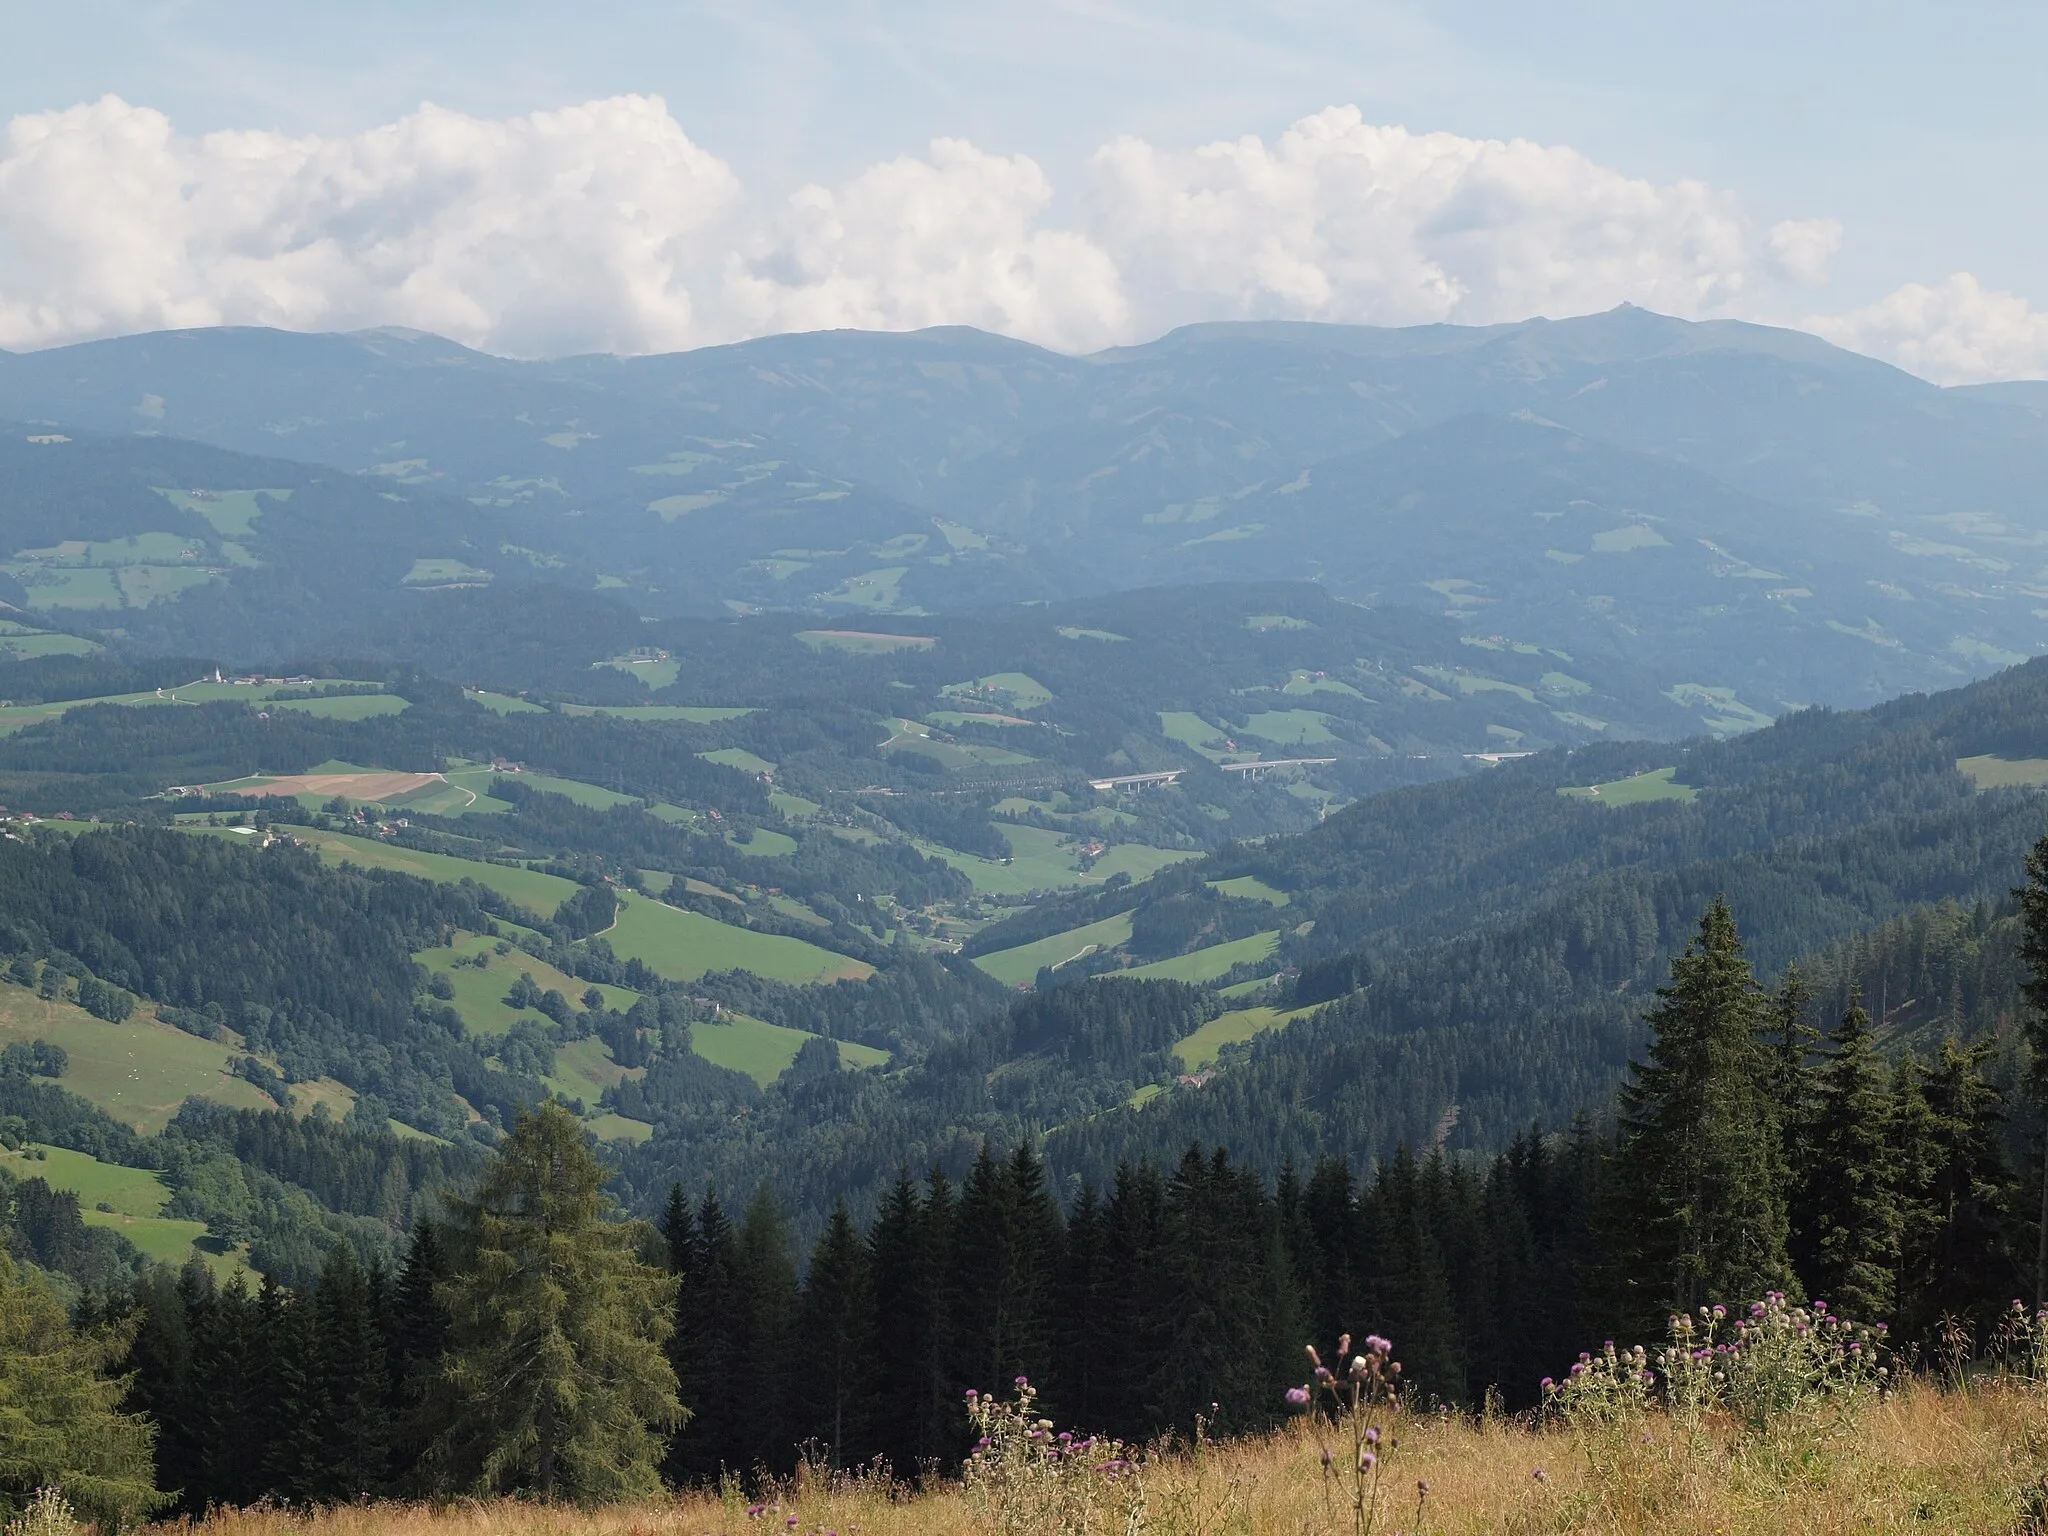
[[[2032,1053],[2048,840],[2025,874]],[[1827,1300],[1911,1360],[2038,1294],[1995,1036],[1886,1057],[1858,999],[1837,1012],[1796,969],[1761,987],[1722,901],[1647,1024],[1608,1114],[1493,1159],[1401,1147],[1270,1182],[1196,1145],[1061,1202],[1032,1145],[987,1145],[958,1182],[905,1169],[866,1227],[834,1208],[801,1253],[766,1190],[729,1210],[678,1186],[657,1223],[616,1221],[582,1128],[543,1106],[395,1270],[336,1245],[293,1288],[195,1260],[86,1292],[72,1348],[125,1395],[70,1413],[127,1436],[109,1511],[156,1507],[152,1485],[188,1513],[604,1499],[799,1458],[956,1468],[965,1391],[1020,1376],[1059,1421],[1137,1444],[1196,1415],[1274,1425],[1300,1343],[1337,1333],[1401,1339],[1423,1403],[1526,1409],[1591,1341],[1706,1303]]]

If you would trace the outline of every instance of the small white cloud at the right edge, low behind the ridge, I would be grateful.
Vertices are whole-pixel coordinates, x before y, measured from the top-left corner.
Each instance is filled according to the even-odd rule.
[[[1935,383],[2048,379],[2048,313],[1970,272],[1931,287],[1907,283],[1872,305],[1812,315],[1804,326]]]

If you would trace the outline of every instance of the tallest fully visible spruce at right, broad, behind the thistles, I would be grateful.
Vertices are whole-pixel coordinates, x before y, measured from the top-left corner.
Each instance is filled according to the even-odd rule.
[[[1647,1024],[1649,1055],[1620,1090],[1608,1212],[1616,1307],[1636,1337],[1675,1311],[1794,1286],[1763,997],[1726,901],[1700,918]]]

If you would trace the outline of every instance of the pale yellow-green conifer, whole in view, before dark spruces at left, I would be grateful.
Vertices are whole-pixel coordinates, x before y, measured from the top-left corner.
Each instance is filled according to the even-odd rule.
[[[662,1354],[676,1282],[612,1221],[584,1126],[559,1104],[522,1114],[475,1196],[453,1202],[432,1458],[449,1489],[541,1499],[659,1491],[664,1432],[684,1409]]]

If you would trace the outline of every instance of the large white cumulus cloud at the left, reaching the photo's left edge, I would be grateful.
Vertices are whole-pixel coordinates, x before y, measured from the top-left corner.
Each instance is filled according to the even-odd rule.
[[[178,135],[106,96],[0,139],[0,344],[401,324],[512,352],[682,346],[739,199],[657,98],[352,137]]]

